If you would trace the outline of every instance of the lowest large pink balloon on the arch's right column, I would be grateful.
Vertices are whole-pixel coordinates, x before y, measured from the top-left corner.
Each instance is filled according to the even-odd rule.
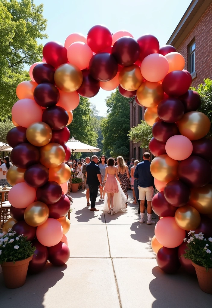
[[[161,245],[174,248],[183,242],[185,230],[176,224],[174,217],[163,217],[155,226],[155,236]]]

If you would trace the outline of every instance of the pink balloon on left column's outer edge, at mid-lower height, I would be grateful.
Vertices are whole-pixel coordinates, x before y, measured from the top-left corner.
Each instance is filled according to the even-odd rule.
[[[24,209],[35,201],[36,190],[25,182],[14,185],[9,193],[8,200],[12,206],[18,209]]]

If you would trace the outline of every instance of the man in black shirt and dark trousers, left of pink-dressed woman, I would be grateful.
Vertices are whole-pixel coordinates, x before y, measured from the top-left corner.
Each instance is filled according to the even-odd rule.
[[[103,187],[100,167],[97,165],[98,160],[99,159],[96,155],[92,156],[91,162],[85,168],[87,174],[86,182],[89,187],[90,200],[91,200],[90,210],[95,212],[99,211],[99,209],[95,208],[99,185]]]

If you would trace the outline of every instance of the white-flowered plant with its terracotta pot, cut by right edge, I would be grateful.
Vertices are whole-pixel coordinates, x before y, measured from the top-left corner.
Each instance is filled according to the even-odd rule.
[[[204,234],[195,231],[190,231],[189,236],[183,256],[194,265],[200,289],[212,294],[212,237],[207,240]]]

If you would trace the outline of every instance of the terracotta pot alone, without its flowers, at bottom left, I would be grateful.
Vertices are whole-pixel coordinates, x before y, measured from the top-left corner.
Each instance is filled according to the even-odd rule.
[[[4,283],[7,288],[16,289],[25,284],[29,262],[32,260],[32,257],[15,261],[15,263],[10,261],[2,264]]]

